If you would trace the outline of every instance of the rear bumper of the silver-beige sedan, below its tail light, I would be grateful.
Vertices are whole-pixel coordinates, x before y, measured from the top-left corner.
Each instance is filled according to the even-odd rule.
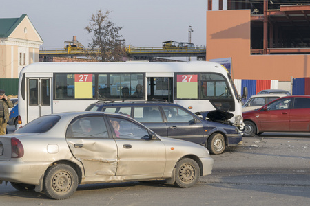
[[[51,163],[26,163],[20,161],[0,161],[0,183],[8,181],[39,185],[41,176]]]

